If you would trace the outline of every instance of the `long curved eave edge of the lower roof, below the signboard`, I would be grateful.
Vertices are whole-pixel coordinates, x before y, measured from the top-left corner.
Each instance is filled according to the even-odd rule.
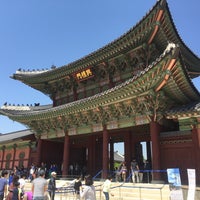
[[[175,47],[177,48],[177,47]],[[171,52],[172,50],[170,50]],[[138,84],[137,87],[134,87],[134,84],[136,84],[137,80],[141,80],[141,77],[144,77],[145,74],[147,74],[151,69],[154,69],[154,67],[158,68],[158,63],[161,61],[164,61],[167,56],[172,56],[171,53],[163,53],[157,60],[149,65],[147,68],[145,68],[140,74],[137,76],[132,77],[131,79],[127,80],[126,82],[115,86],[112,89],[109,89],[107,91],[104,91],[100,94],[94,95],[92,97],[88,97],[85,99],[78,100],[76,102],[71,102],[69,104],[61,105],[58,107],[49,107],[47,109],[38,109],[35,111],[28,111],[28,110],[18,110],[17,112],[8,111],[6,107],[0,109],[0,113],[2,115],[6,115],[9,118],[15,120],[15,121],[27,121],[29,117],[33,117],[35,120],[40,120],[44,118],[49,118],[55,116],[62,116],[67,114],[73,114],[75,112],[80,111],[86,111],[89,109],[94,109],[98,106],[105,106],[106,104],[112,103],[112,101],[123,101],[124,99],[128,98],[128,95],[133,96],[139,96],[142,95],[141,88],[142,84]],[[159,71],[159,70],[156,70]],[[184,70],[184,73],[187,73],[186,70]],[[187,76],[186,76],[187,77]],[[157,79],[156,79],[157,78]],[[151,81],[151,85],[149,87],[152,87],[153,84],[156,84],[158,81],[160,82],[159,76],[156,76],[156,80]],[[184,79],[189,85],[188,87],[193,90],[193,96],[194,99],[200,99],[200,95],[197,92],[197,90],[194,90],[194,85],[191,81],[188,81],[188,79]],[[129,87],[131,87],[131,90],[129,90]],[[135,91],[134,91],[135,90]],[[128,91],[128,92],[127,92]],[[131,92],[130,92],[131,91]],[[131,94],[128,94],[128,93]],[[143,91],[145,92],[145,91]]]

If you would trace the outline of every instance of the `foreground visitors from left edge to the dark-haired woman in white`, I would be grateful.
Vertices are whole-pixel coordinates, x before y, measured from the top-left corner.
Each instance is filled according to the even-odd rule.
[[[0,200],[54,200],[56,191],[56,172],[51,172],[51,177],[45,178],[45,170],[39,169],[31,181],[31,191],[25,191],[25,176],[9,175],[7,170],[1,172]],[[9,183],[10,181],[10,183]],[[85,184],[82,186],[82,176],[74,183],[76,199],[96,200],[96,191],[91,175],[85,176]]]

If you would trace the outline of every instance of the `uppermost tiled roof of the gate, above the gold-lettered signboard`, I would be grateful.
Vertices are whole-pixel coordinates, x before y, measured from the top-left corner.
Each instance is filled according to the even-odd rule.
[[[193,61],[195,61],[195,64],[190,64],[187,67],[191,68],[193,71],[195,68],[195,71],[199,71],[196,66],[199,64],[200,60],[197,55],[195,55],[183,42],[181,37],[178,34],[178,31],[176,30],[176,26],[173,22],[168,4],[166,0],[157,1],[157,3],[149,10],[149,12],[146,13],[146,15],[138,22],[135,26],[130,28],[126,33],[124,33],[119,38],[113,40],[112,42],[108,43],[104,47],[99,48],[98,50],[90,53],[87,56],[84,56],[83,58],[80,58],[72,63],[69,63],[67,65],[61,66],[61,67],[53,67],[50,70],[33,70],[33,71],[24,71],[24,70],[17,70],[15,74],[13,74],[12,78],[17,80],[23,80],[23,83],[30,84],[32,86],[35,86],[33,83],[37,83],[38,80],[42,80],[42,82],[49,81],[49,80],[55,80],[58,79],[58,77],[64,77],[66,75],[69,75],[71,73],[74,73],[75,71],[79,71],[87,66],[94,65],[95,63],[103,62],[106,59],[110,59],[111,57],[117,56],[120,52],[124,51],[128,46],[132,46],[136,41],[140,42],[142,41],[142,38],[148,33],[148,31],[144,31],[140,33],[140,28],[142,27],[142,24],[146,26],[152,26],[154,23],[147,23],[145,20],[152,21],[150,18],[155,17],[156,12],[158,9],[164,9],[165,10],[165,17],[169,21],[169,26],[165,27],[167,28],[168,34],[171,36],[171,41],[174,43],[178,43],[180,45],[180,48],[183,50],[184,57],[188,54],[190,54],[189,57],[192,56]],[[151,28],[149,27],[149,31],[151,31]],[[161,33],[164,30],[162,29]],[[169,41],[169,38],[165,38],[166,34],[159,34],[158,39],[160,41],[160,45],[166,44],[167,41]],[[145,38],[145,37],[144,37]],[[163,40],[163,41],[162,41]],[[137,44],[137,43],[136,43]],[[138,45],[138,44],[137,44]],[[136,46],[137,46],[136,45]],[[135,47],[136,47],[135,46]],[[197,64],[198,63],[198,64]],[[191,66],[194,65],[194,66]],[[41,77],[41,79],[38,79]],[[35,86],[36,87],[36,86]],[[37,88],[38,89],[38,88]]]

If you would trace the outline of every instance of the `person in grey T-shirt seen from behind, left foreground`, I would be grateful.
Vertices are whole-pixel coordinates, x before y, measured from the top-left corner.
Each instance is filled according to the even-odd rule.
[[[38,172],[38,177],[32,181],[33,200],[45,199],[45,193],[47,190],[47,180],[44,177],[45,171],[40,170]]]

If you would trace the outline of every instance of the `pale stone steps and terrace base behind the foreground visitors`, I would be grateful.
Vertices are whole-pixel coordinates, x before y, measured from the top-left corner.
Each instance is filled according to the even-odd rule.
[[[70,181],[57,180],[56,200],[76,200],[73,187]],[[97,200],[104,200],[102,193],[103,182],[94,182]],[[26,191],[31,191],[31,183],[26,183]],[[133,184],[133,183],[112,183],[110,200],[169,200],[169,185],[167,184]]]

